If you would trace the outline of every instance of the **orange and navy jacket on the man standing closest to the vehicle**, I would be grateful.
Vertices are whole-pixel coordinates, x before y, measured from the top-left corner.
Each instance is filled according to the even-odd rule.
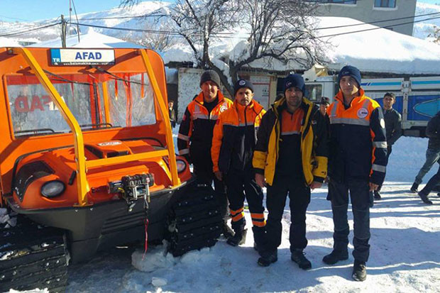
[[[226,99],[221,92],[217,96],[219,101],[209,113],[204,106],[203,92],[200,92],[188,104],[180,124],[179,135],[177,136],[179,155],[189,157],[194,164],[206,163],[197,162],[197,157],[200,160],[211,157],[212,131],[216,121],[221,112],[231,108],[232,101],[230,99]]]

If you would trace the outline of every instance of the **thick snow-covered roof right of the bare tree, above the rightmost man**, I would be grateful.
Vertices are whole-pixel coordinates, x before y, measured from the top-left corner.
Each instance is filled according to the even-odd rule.
[[[362,24],[352,18],[319,17],[319,27]],[[330,28],[319,35],[335,35],[377,28],[370,24]],[[340,70],[343,65],[356,66],[361,72],[390,72],[397,74],[440,74],[440,45],[403,35],[386,28],[348,33],[323,38],[331,43],[327,56],[329,68]]]

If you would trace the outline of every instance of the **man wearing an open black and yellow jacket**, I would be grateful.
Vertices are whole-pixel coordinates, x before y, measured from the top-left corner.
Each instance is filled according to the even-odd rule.
[[[307,270],[312,264],[303,252],[307,246],[306,210],[310,189],[321,187],[327,175],[327,126],[319,107],[304,97],[304,79],[299,74],[287,76],[284,89],[285,98],[263,116],[253,153],[255,181],[268,187],[266,247],[258,264],[268,266],[277,261],[281,219],[289,194],[291,258]]]

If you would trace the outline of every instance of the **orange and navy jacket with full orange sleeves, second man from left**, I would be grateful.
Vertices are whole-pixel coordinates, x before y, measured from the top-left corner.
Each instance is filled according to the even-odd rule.
[[[248,106],[234,101],[231,109],[220,115],[212,137],[214,172],[227,173],[230,167],[251,170],[257,131],[264,114],[263,106],[252,100]]]

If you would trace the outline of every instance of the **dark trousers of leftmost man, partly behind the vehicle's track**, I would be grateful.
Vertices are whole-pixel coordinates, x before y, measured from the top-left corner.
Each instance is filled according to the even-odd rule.
[[[220,206],[221,216],[225,221],[229,219],[228,213],[228,199],[226,198],[226,187],[223,182],[219,181],[212,172],[212,162],[193,162],[193,172],[197,176],[198,184],[207,184],[211,186],[214,180],[214,190],[216,192],[217,202]]]

